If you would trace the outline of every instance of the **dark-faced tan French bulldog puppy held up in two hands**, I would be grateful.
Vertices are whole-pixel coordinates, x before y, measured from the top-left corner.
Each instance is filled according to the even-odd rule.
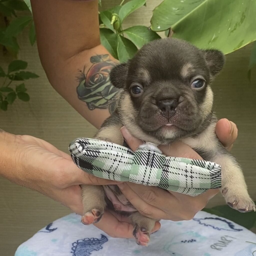
[[[255,211],[241,167],[215,134],[210,84],[224,62],[220,51],[201,50],[183,40],[166,38],[144,45],[134,58],[112,69],[113,86],[123,90],[116,111],[95,138],[123,145],[120,128],[125,126],[135,137],[156,145],[180,140],[222,167],[221,193],[230,207]],[[156,220],[136,211],[118,186],[81,188],[84,224],[99,221],[105,208],[114,208],[119,200],[131,217],[136,242],[148,244]]]

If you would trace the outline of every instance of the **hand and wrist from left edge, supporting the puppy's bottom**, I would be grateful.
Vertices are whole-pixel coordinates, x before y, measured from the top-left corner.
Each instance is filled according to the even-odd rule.
[[[12,182],[36,190],[82,215],[80,184],[118,184],[79,169],[70,155],[39,138],[0,132],[0,174]],[[4,168],[3,168],[4,166]],[[95,226],[112,237],[133,238],[129,218],[106,210]],[[160,228],[156,223],[152,232]]]

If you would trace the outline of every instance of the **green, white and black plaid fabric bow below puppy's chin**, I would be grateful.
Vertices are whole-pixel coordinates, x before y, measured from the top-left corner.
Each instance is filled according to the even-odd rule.
[[[165,156],[148,144],[133,152],[114,143],[77,138],[69,151],[80,169],[104,179],[157,186],[190,196],[221,187],[220,165]]]

